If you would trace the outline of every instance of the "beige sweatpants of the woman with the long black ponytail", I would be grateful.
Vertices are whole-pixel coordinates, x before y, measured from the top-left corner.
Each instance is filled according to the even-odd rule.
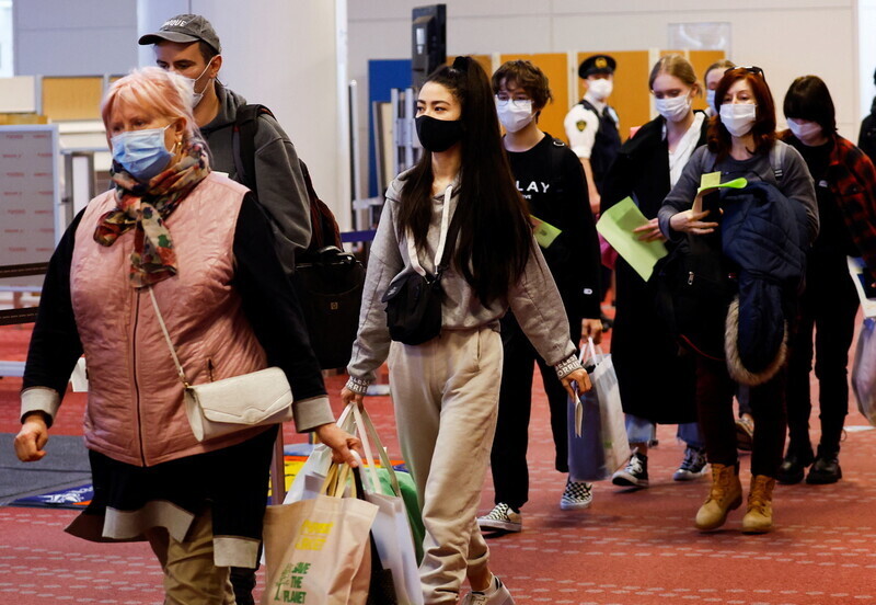
[[[420,345],[390,349],[399,441],[426,527],[419,567],[426,605],[456,603],[466,570],[482,571],[489,558],[476,516],[502,357],[502,338],[489,329],[445,331]]]

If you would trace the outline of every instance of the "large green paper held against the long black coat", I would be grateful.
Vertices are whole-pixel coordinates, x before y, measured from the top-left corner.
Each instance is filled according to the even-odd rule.
[[[638,235],[633,232],[636,227],[647,224],[648,219],[631,197],[623,198],[602,213],[596,224],[597,231],[646,282],[654,272],[654,264],[667,254],[664,242],[641,241]]]

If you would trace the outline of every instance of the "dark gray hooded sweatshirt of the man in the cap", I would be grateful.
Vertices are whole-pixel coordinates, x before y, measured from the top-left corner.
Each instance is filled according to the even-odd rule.
[[[209,146],[210,167],[242,183],[234,165],[234,121],[246,104],[240,94],[216,82],[219,113],[200,128]],[[275,248],[286,273],[295,270],[295,253],[310,244],[310,202],[295,146],[269,115],[258,116],[255,133],[255,193],[270,219]]]

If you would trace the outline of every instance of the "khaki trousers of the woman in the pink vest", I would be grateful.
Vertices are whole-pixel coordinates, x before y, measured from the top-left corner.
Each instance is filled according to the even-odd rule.
[[[164,571],[164,605],[234,605],[230,568],[212,559],[212,517],[206,509],[177,541],[163,527],[147,532]]]

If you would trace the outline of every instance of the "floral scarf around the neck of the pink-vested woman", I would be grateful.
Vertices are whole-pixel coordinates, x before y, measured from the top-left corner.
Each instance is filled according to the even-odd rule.
[[[204,144],[189,144],[183,150],[182,160],[148,183],[140,183],[118,167],[116,169],[113,174],[116,208],[101,217],[94,241],[113,246],[123,233],[135,229],[129,274],[135,288],[176,275],[176,252],[164,221],[210,173]]]

